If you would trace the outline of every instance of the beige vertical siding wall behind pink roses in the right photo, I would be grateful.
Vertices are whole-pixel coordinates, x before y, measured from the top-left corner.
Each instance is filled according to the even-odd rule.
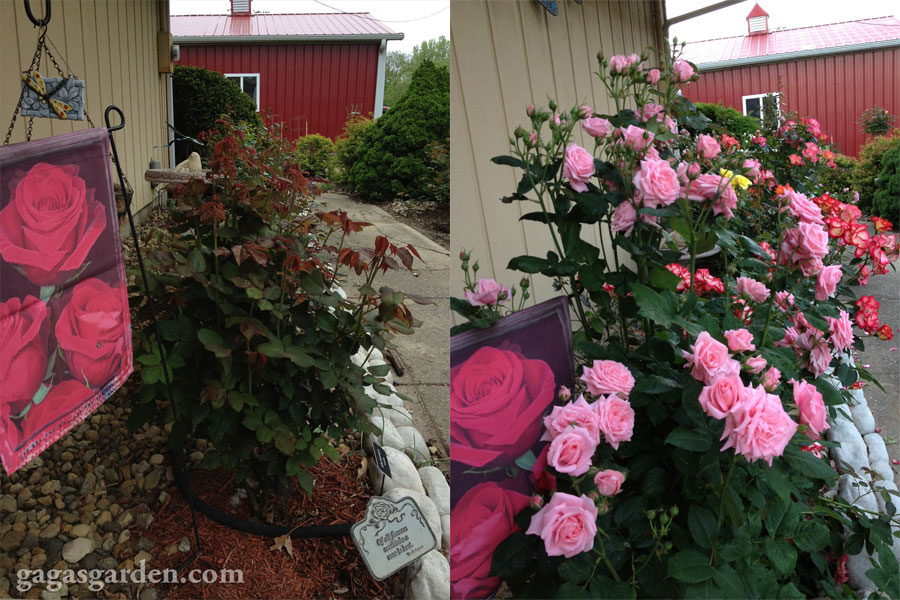
[[[503,204],[515,190],[516,169],[490,159],[509,151],[517,125],[526,126],[525,106],[546,106],[548,96],[563,109],[588,104],[597,112],[613,105],[597,79],[597,51],[606,56],[640,53],[655,46],[659,5],[655,1],[559,0],[559,15],[537,2],[462,0],[450,11],[450,216],[451,293],[462,295],[456,258],[463,248],[479,261],[480,277],[504,284],[520,275],[506,270],[521,254],[545,256],[553,249],[544,225],[519,222],[537,205]],[[576,129],[576,143],[590,140]],[[600,244],[596,227],[582,235]],[[607,236],[608,240],[608,236]],[[533,279],[534,300],[555,295],[547,278]]]

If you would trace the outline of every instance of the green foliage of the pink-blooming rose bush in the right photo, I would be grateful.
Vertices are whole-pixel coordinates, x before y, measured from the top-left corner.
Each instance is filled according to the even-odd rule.
[[[641,61],[650,56],[655,53],[645,53]],[[780,161],[787,160],[786,155],[800,144],[805,148],[807,141],[816,139],[810,133],[815,123],[809,120],[788,127],[783,133],[787,139],[775,139],[772,147],[757,154],[719,138],[729,142],[728,147],[715,157],[704,157],[695,137],[675,134],[665,122],[670,118],[693,123],[698,131],[707,129],[696,107],[676,95],[677,86],[665,83],[678,80],[678,73],[685,72],[684,63],[673,67],[670,61],[661,66],[660,85],[650,86],[645,83],[649,67],[641,61],[623,69],[610,67],[612,60],[607,63],[600,58],[604,87],[617,110],[591,116],[608,120],[619,132],[598,136],[586,149],[570,148],[587,109],[557,110],[551,101],[549,110],[529,108],[530,123],[513,133],[511,155],[493,159],[521,174],[517,189],[503,201],[530,207],[532,212],[522,210],[520,219],[531,222],[526,224],[529,228],[538,227],[534,223],[548,227],[553,243],[545,255],[515,257],[508,268],[545,275],[568,296],[577,365],[616,361],[628,368],[636,383],[628,394],[634,411],[629,441],[616,450],[601,441],[591,457],[592,469],[583,475],[546,468],[556,477],[555,493],[593,499],[598,510],[593,548],[569,558],[548,556],[550,544],[525,533],[535,515],[529,507],[516,517],[520,530],[494,552],[491,574],[502,578],[514,597],[844,598],[853,594],[839,577],[840,557],[866,549],[872,557],[869,577],[883,596],[896,597],[900,566],[890,546],[897,539],[892,527],[896,530],[900,525],[896,511],[900,496],[877,489],[865,473],[858,474],[862,478],[859,492],[879,499],[886,514],[851,506],[828,493],[838,474],[827,457],[809,451],[809,426],[797,416],[788,383],[795,379],[814,386],[833,423],[838,406],[846,410],[844,403],[851,398],[847,387],[871,376],[865,369],[841,362],[830,348],[828,363],[834,375],[822,372],[824,367],[817,374],[808,352],[803,354],[791,344],[775,344],[786,338],[799,312],[809,327],[827,336],[826,317],[838,317],[841,310],[854,314],[855,296],[838,283],[835,297],[816,300],[814,276],[805,276],[790,264],[779,266],[771,257],[764,243],[777,253],[785,232],[798,227],[799,219],[779,210],[784,200],[772,189],[775,182],[744,166],[747,159],[762,157],[766,167],[786,178],[776,177],[777,183],[793,182],[795,189],[800,188],[800,176]],[[632,107],[651,100],[661,104],[664,113],[660,118],[642,119]],[[644,167],[663,167],[660,160],[629,147],[634,140],[647,139],[640,131],[635,133],[637,128],[654,134],[655,150],[662,161],[673,161],[672,169],[696,163],[700,177],[723,177],[722,187],[689,200],[683,184],[674,184],[681,191],[667,202],[648,206],[644,196],[636,207],[632,205],[632,211],[653,219],[632,220],[630,227],[621,227],[621,215],[616,213],[623,203],[633,202],[637,191],[668,189],[654,188],[653,180],[639,180]],[[631,141],[623,143],[626,135],[631,135]],[[583,156],[579,152],[593,158],[594,168],[574,181],[578,168],[585,171],[586,161],[575,162]],[[812,167],[805,171],[811,172]],[[639,189],[639,181],[644,189]],[[584,191],[577,191],[576,184]],[[715,212],[726,192],[733,201],[733,215]],[[698,193],[703,193],[702,188]],[[519,210],[512,212],[519,214]],[[613,232],[617,226],[619,231]],[[601,243],[595,245],[594,240]],[[698,255],[712,248],[718,252],[702,263],[703,268],[721,278],[724,292],[698,291],[699,285],[684,290],[682,279],[667,267],[680,262],[681,269],[688,269],[688,281],[697,282]],[[844,257],[841,252],[832,240],[824,264],[843,263],[845,272],[851,273],[864,260]],[[463,253],[461,260],[467,262],[468,255]],[[738,277],[764,282],[765,299],[740,292]],[[795,306],[780,309],[775,305],[776,292],[791,294]],[[454,308],[474,326],[484,318],[461,301]],[[771,464],[748,454],[746,448],[740,454],[733,448],[722,450],[727,421],[704,412],[699,401],[704,384],[685,368],[683,353],[693,351],[692,344],[701,333],[726,344],[725,332],[737,329],[746,329],[755,345],[744,354],[728,354],[729,359],[744,363],[739,367],[741,385],[761,390],[765,375],[754,372],[745,359],[765,359],[765,367],[780,371],[779,380],[767,383],[774,399],[766,396],[766,402],[780,403],[792,425],[801,421],[796,431],[786,428],[792,435],[769,455]],[[825,439],[819,442],[826,450],[836,446]],[[625,474],[618,494],[589,496],[598,491],[593,477],[599,469]],[[526,472],[523,477],[529,475]],[[549,502],[548,481],[539,479],[535,485]],[[544,525],[556,527],[546,521]],[[587,529],[572,525],[555,531],[559,539],[580,540],[579,532]]]

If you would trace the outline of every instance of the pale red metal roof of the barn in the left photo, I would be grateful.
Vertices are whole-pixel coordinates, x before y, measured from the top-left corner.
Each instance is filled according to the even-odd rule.
[[[231,15],[172,15],[176,38],[359,37],[402,39],[369,13],[305,13]]]

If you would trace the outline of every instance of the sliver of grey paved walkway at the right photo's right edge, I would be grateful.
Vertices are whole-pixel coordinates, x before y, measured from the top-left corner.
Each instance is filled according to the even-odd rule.
[[[881,303],[878,311],[881,322],[894,330],[891,341],[868,336],[859,329],[855,333],[863,336],[866,346],[866,351],[857,356],[857,362],[868,365],[869,372],[884,386],[883,392],[871,383],[863,388],[875,426],[881,428],[881,435],[888,442],[891,459],[900,459],[900,350],[891,350],[900,348],[900,271],[872,276],[869,285],[853,289],[857,296],[875,296]],[[900,481],[900,466],[891,464],[891,468],[894,479]]]

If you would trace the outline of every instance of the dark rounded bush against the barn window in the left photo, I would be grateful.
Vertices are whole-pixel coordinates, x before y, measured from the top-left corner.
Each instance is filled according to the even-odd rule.
[[[223,114],[235,122],[262,125],[250,96],[242,92],[238,84],[215,71],[176,65],[172,74],[172,97],[175,103],[175,129],[195,139],[198,139],[200,132],[216,128],[216,121]],[[178,160],[192,151],[201,154],[208,152],[205,146],[191,142],[177,144],[176,150]]]

